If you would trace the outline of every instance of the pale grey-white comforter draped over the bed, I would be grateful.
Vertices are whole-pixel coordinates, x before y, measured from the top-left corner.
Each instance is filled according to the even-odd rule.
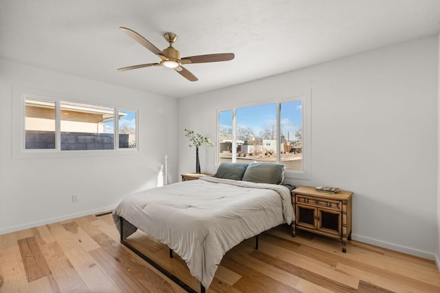
[[[291,224],[294,212],[282,185],[203,177],[128,196],[113,211],[119,231],[120,217],[126,220],[124,238],[140,228],[173,249],[208,289],[228,250]]]

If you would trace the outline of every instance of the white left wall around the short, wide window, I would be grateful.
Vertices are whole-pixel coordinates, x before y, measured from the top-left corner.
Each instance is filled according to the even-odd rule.
[[[16,86],[60,93],[80,102],[138,109],[140,152],[13,157],[12,124],[20,119],[12,107]],[[0,234],[111,209],[133,191],[157,186],[166,155],[168,182],[177,181],[176,117],[174,98],[0,60]],[[77,203],[72,203],[72,194],[78,195]]]

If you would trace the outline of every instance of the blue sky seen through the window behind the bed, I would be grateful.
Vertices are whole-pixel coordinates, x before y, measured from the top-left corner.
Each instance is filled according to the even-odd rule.
[[[281,133],[287,139],[294,139],[294,133],[303,121],[302,100],[281,103]],[[259,134],[265,127],[276,125],[276,103],[236,108],[236,123],[244,128],[252,128]],[[220,129],[232,127],[232,110],[219,115]]]

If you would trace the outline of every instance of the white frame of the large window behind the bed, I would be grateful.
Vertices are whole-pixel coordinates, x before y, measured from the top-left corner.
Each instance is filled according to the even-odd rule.
[[[259,103],[254,104],[241,104],[228,108],[219,108],[216,111],[216,158],[215,165],[219,165],[219,114],[224,111],[232,111],[232,145],[236,145],[236,109],[249,107],[249,106],[258,106],[263,104],[271,104],[276,103],[276,140],[277,140],[277,150],[276,152],[279,154],[281,152],[281,104],[285,102],[292,102],[295,100],[301,100],[303,107],[303,169],[286,169],[285,177],[286,178],[296,178],[296,179],[310,179],[311,178],[311,91],[306,93],[305,95],[288,97],[285,99],[274,99],[274,100],[266,100],[261,101]],[[236,151],[233,149],[232,152],[232,162],[236,162]],[[280,163],[280,156],[276,158],[277,162]]]

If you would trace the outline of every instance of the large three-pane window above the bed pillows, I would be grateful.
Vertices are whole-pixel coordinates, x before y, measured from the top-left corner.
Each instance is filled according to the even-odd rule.
[[[283,163],[291,173],[309,173],[303,146],[304,121],[309,121],[305,104],[309,108],[309,99],[300,97],[218,111],[218,163]]]

